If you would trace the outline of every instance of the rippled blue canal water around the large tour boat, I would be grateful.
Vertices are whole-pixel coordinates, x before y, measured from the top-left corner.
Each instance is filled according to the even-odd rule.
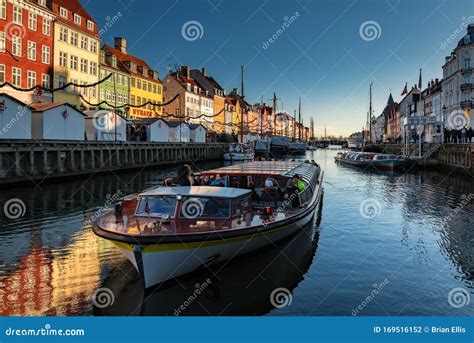
[[[90,223],[172,169],[2,189],[0,204],[21,199],[26,214],[0,216],[0,315],[472,315],[473,178],[369,173],[334,155],[307,155],[325,171],[313,225],[147,292]]]

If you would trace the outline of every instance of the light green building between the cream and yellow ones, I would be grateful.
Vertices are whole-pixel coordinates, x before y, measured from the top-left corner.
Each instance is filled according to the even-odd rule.
[[[108,75],[111,77],[99,85],[99,100],[107,103],[100,105],[100,108],[111,109],[127,105],[131,75],[117,56],[107,49],[107,46],[103,46],[100,50],[99,78],[102,80]],[[117,111],[127,115],[127,107],[119,108]]]

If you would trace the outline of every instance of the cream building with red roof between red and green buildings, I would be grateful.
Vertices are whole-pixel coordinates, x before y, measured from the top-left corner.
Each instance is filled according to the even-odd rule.
[[[68,82],[95,84],[99,80],[100,38],[97,23],[79,0],[52,0],[54,22],[54,87]],[[95,109],[98,87],[70,86],[53,94],[54,102],[66,102],[82,110]]]

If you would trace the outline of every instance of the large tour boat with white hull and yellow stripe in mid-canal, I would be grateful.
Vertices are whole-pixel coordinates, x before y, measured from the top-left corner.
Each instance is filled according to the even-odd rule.
[[[282,188],[295,174],[302,190]],[[148,189],[93,226],[133,264],[144,288],[272,246],[310,223],[322,201],[323,172],[311,163],[255,161],[200,175],[219,175],[223,186]]]

